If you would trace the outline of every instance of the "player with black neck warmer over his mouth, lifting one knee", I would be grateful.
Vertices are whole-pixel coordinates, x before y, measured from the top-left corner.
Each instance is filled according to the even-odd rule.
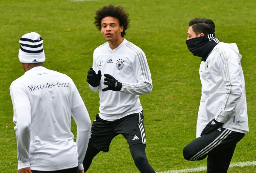
[[[214,34],[212,20],[189,22],[187,46],[201,58],[199,75],[202,97],[196,124],[196,139],[185,146],[188,161],[207,156],[208,173],[226,173],[236,143],[249,132],[244,74],[235,43],[222,43]]]

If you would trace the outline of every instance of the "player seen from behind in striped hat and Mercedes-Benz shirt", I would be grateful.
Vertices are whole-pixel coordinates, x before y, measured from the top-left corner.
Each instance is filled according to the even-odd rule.
[[[20,38],[19,59],[25,74],[10,86],[18,172],[84,173],[91,120],[76,85],[67,75],[43,67],[43,39],[35,32]]]

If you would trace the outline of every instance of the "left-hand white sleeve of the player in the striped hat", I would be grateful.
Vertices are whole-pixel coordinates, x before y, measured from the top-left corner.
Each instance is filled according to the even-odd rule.
[[[30,145],[30,101],[24,89],[20,86],[10,86],[10,95],[13,106],[13,122],[15,123],[15,133],[17,138],[18,170],[30,167],[29,145]]]

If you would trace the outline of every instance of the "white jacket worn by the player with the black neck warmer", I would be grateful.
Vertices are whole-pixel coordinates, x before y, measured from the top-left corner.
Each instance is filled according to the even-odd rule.
[[[197,138],[213,118],[224,123],[223,128],[249,132],[241,58],[235,43],[219,43],[206,61],[201,62],[202,97],[196,126]]]

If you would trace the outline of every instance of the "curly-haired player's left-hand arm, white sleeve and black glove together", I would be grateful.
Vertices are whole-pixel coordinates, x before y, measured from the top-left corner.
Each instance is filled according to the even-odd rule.
[[[101,71],[98,70],[98,73],[96,74],[96,72],[94,71],[96,69],[97,69],[97,64],[96,64],[96,60],[93,52],[92,67],[87,72],[86,81],[89,83],[90,89],[94,92],[97,92],[99,90],[100,79],[101,79]]]

